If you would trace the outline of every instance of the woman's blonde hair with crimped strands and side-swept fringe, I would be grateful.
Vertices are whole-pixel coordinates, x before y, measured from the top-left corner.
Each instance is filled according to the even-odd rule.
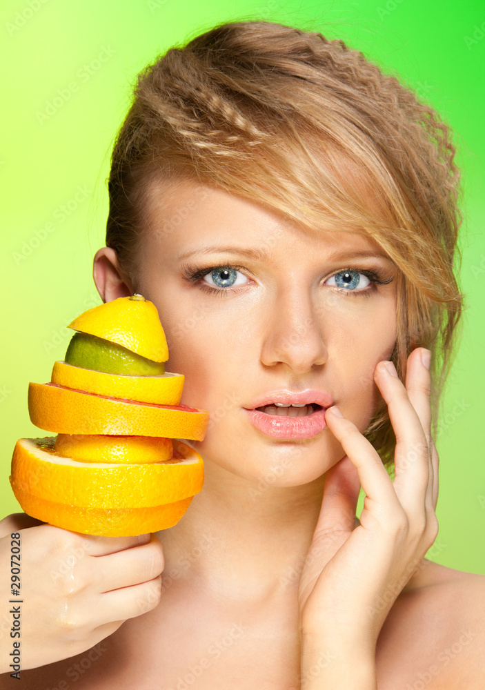
[[[154,179],[199,180],[306,228],[370,235],[399,268],[399,377],[414,348],[432,353],[436,435],[463,301],[459,174],[437,113],[343,41],[268,21],[222,23],[170,48],[134,96],[108,181],[106,245],[126,274],[139,275]],[[384,401],[365,435],[392,467]]]

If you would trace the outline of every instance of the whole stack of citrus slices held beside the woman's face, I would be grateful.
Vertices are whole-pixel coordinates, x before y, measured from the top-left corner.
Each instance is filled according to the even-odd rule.
[[[89,309],[68,328],[51,382],[29,384],[30,420],[57,436],[19,439],[10,484],[43,522],[110,537],[168,529],[204,483],[206,410],[179,405],[184,376],[165,372],[157,308],[142,295]]]

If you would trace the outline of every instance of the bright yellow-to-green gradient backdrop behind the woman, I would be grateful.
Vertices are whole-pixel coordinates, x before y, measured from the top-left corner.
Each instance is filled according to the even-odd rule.
[[[72,319],[101,303],[92,256],[104,245],[105,180],[115,133],[143,66],[219,21],[266,19],[339,37],[397,72],[455,130],[464,175],[464,330],[435,439],[439,535],[428,558],[485,574],[483,451],[485,239],[482,1],[231,3],[175,0],[3,1],[1,223],[1,515],[28,417],[28,382],[50,380]],[[361,501],[362,505],[362,501]]]

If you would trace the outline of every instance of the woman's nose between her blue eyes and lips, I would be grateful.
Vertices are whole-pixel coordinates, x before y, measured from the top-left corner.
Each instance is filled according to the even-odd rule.
[[[264,325],[261,364],[286,364],[291,371],[303,374],[317,364],[325,364],[328,351],[321,331],[322,315],[306,289],[280,293],[270,306],[271,317]]]

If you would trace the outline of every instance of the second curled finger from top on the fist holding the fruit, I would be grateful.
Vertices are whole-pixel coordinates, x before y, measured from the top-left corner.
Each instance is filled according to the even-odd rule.
[[[101,593],[157,578],[164,569],[164,552],[152,534],[148,544],[97,557],[96,579]]]

